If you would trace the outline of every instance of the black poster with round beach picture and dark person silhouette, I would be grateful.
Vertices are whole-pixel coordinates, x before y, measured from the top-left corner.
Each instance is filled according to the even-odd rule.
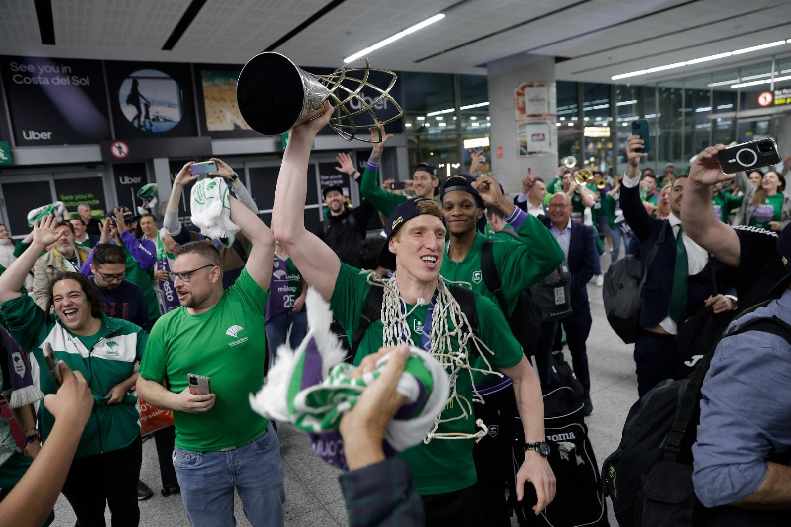
[[[188,64],[108,62],[106,66],[115,138],[197,135]]]

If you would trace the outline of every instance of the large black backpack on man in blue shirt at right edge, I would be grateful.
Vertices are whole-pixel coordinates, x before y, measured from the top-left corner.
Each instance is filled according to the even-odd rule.
[[[791,326],[777,317],[747,320],[722,339],[746,331],[771,333],[791,345]],[[713,351],[698,362],[690,377],[655,386],[626,416],[620,445],[602,466],[604,492],[612,499],[621,527],[684,527],[706,518],[692,486],[692,445],[700,418],[700,389]]]

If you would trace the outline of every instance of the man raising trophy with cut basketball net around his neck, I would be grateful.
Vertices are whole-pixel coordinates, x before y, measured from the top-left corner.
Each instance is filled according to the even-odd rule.
[[[388,245],[380,253],[383,267],[395,270],[392,279],[376,282],[370,275],[341,264],[335,252],[304,226],[307,169],[316,132],[331,116],[327,103],[323,116],[290,131],[275,191],[272,229],[305,280],[330,300],[333,314],[354,334],[362,304],[374,286],[384,288],[381,317],[370,323],[361,337],[355,362],[376,353],[387,343],[419,343],[446,365],[452,375],[452,393],[430,442],[399,454],[414,472],[415,487],[426,508],[426,525],[475,525],[483,521],[479,490],[475,484],[471,436],[471,345],[478,340],[463,323],[464,313],[448,293],[439,275],[446,229],[442,213],[430,199],[408,200],[396,207],[388,224]],[[513,339],[502,313],[488,298],[475,295],[482,353],[513,380],[517,407],[523,416],[526,444],[524,463],[517,472],[517,499],[524,482],[536,487],[536,514],[554,497],[554,475],[536,449],[543,442],[543,401],[538,377]]]

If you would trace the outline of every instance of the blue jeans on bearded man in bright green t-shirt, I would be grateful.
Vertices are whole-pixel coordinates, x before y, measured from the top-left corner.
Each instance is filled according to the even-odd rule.
[[[210,433],[210,430],[206,430]],[[227,452],[173,449],[184,510],[193,527],[233,527],[233,489],[253,527],[284,524],[283,465],[278,434],[267,433]]]

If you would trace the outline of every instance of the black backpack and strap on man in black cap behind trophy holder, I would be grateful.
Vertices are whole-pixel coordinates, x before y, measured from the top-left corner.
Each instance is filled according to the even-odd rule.
[[[494,264],[494,241],[486,240],[483,243],[481,252],[481,274],[486,288],[494,293],[498,305],[508,320],[513,336],[522,345],[522,351],[528,357],[536,354],[539,335],[541,333],[541,309],[536,301],[530,296],[530,290],[524,290],[517,298],[517,304],[513,307],[513,313],[508,314],[508,305],[505,303],[505,295],[502,294],[502,282]]]

